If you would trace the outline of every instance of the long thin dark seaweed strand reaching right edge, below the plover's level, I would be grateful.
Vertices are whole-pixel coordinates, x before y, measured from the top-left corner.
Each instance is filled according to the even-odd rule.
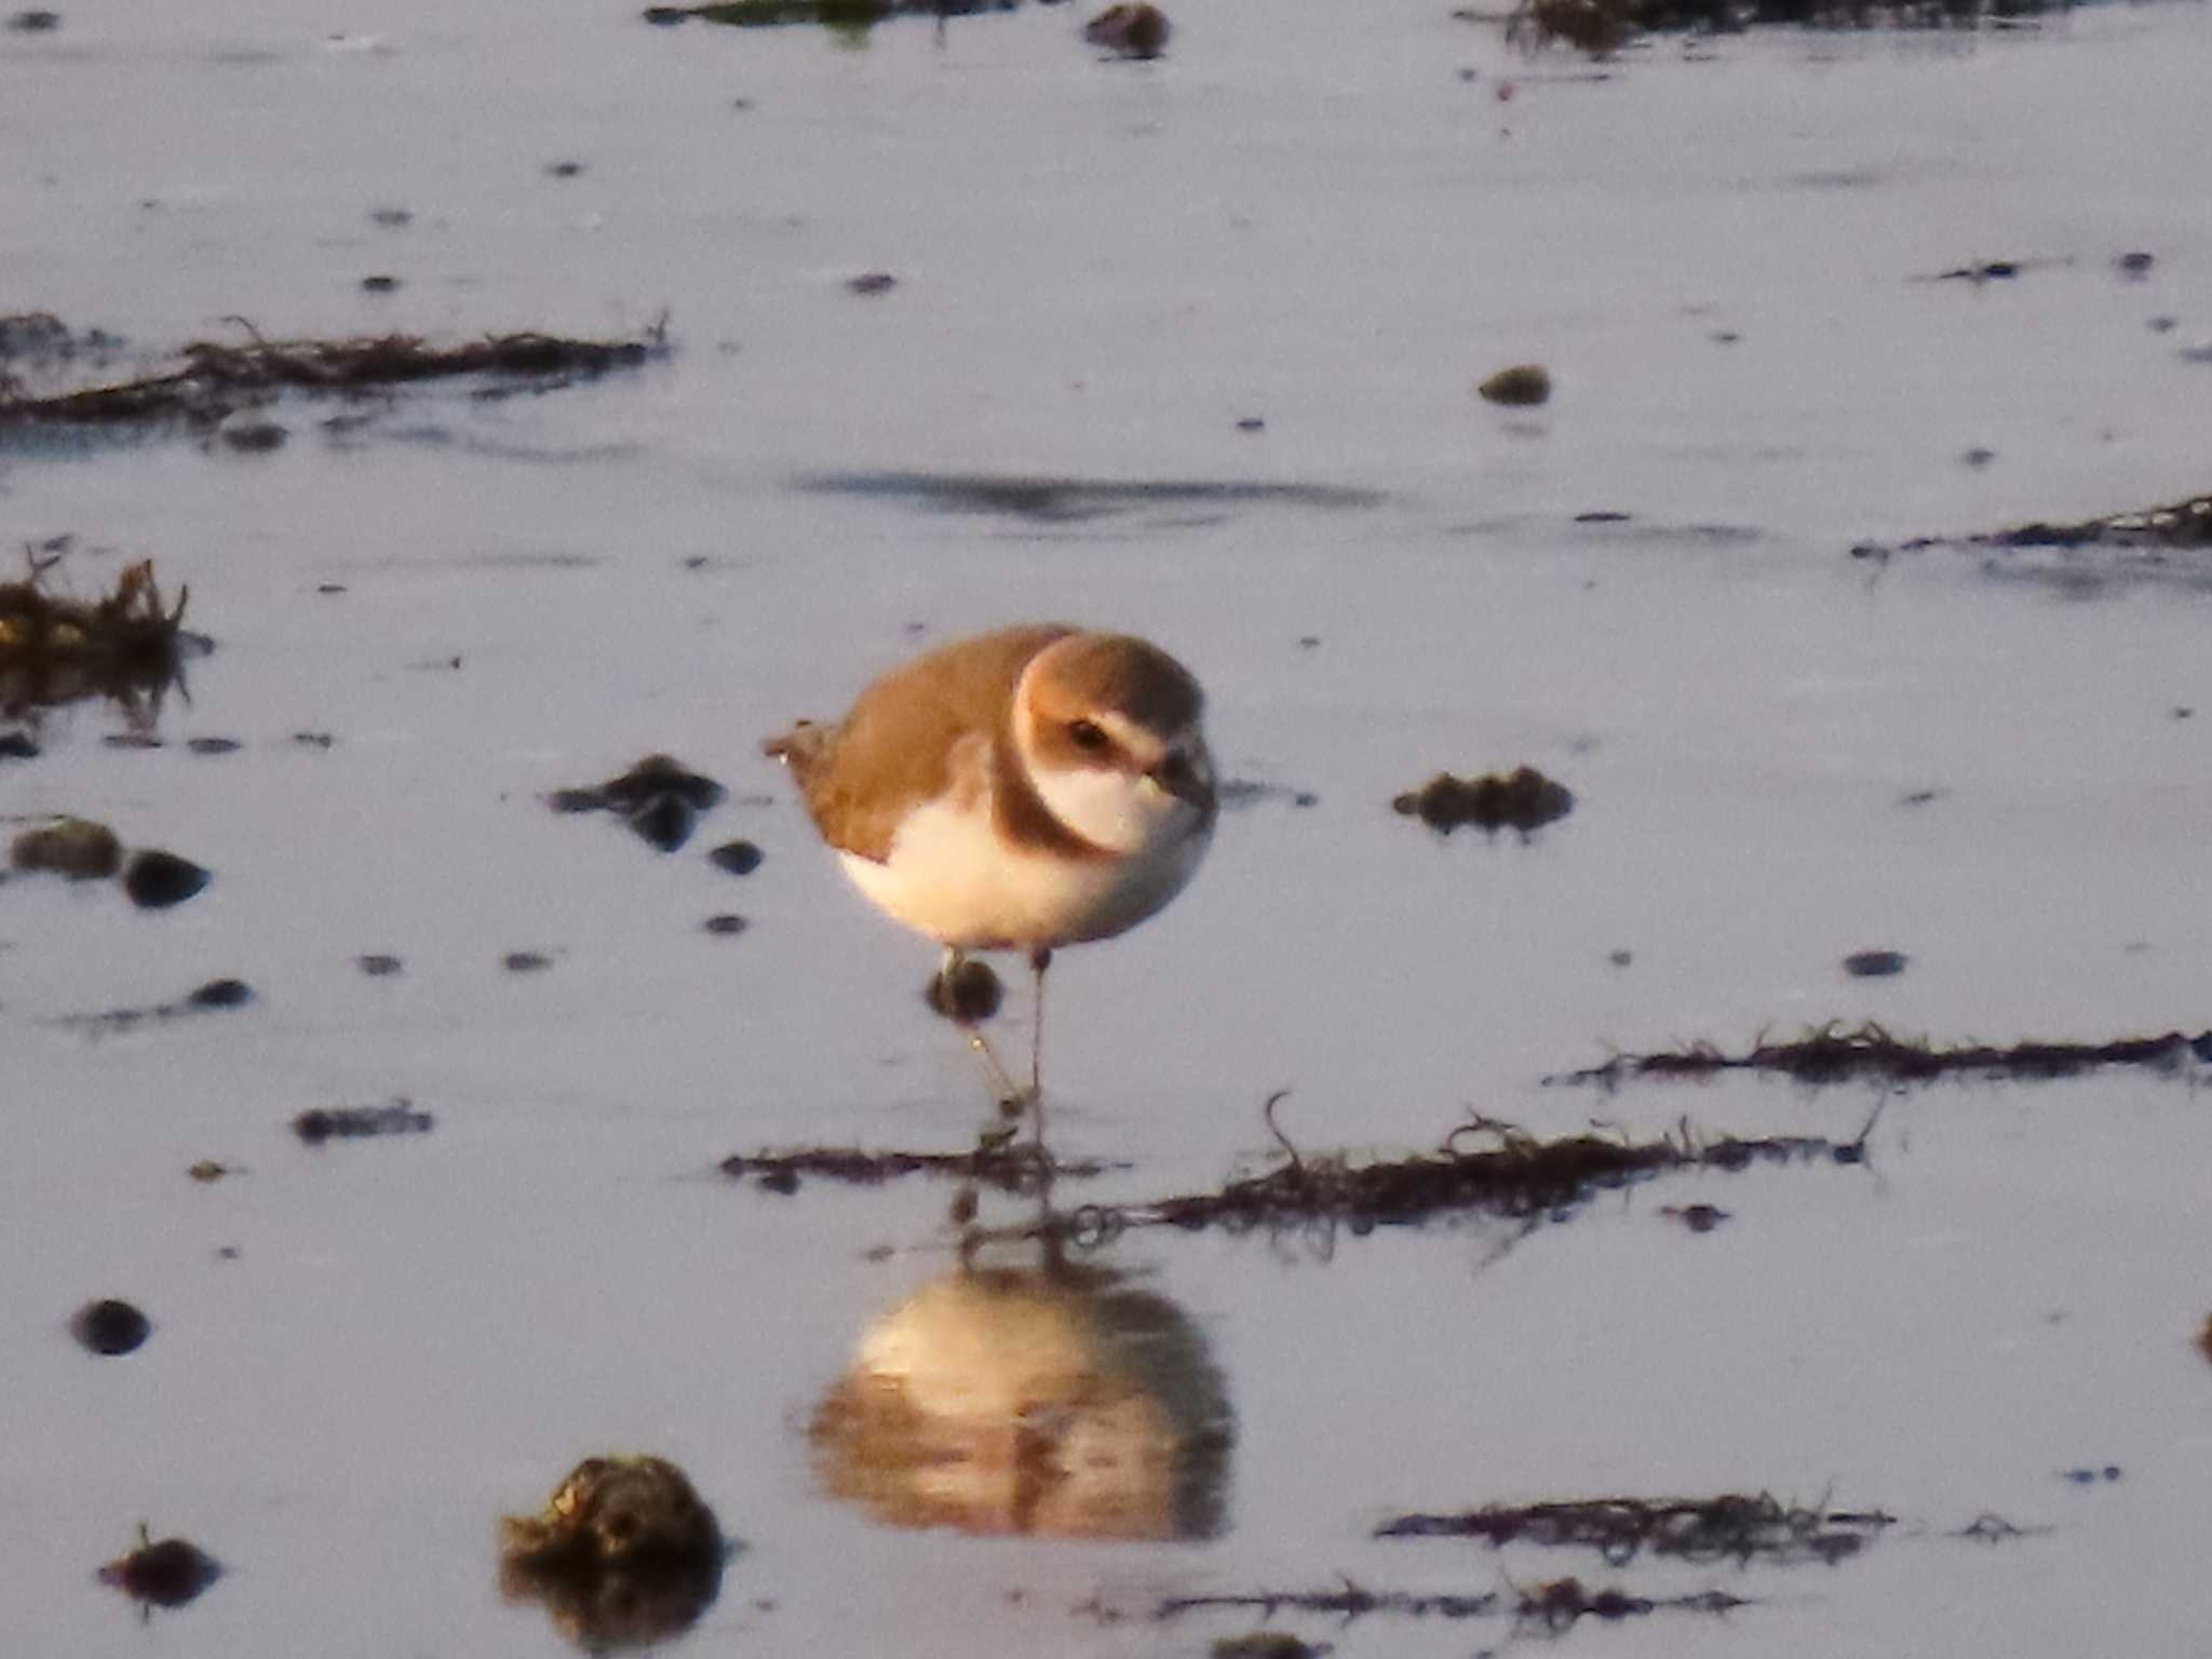
[[[1648,1055],[1613,1055],[1601,1066],[1553,1073],[1546,1084],[1599,1084],[1610,1088],[1632,1077],[1712,1077],[1723,1071],[1772,1071],[1801,1084],[1898,1082],[1936,1077],[2020,1077],[2044,1082],[2079,1077],[2099,1066],[2148,1066],[2185,1073],[2212,1062],[2212,1031],[2194,1037],[2168,1031],[2159,1037],[2115,1037],[2112,1042],[2015,1042],[1997,1048],[1982,1042],[1938,1048],[1927,1037],[1893,1037],[1878,1024],[1825,1024],[1792,1042],[1756,1042],[1739,1055],[1710,1042],[1663,1048]]]

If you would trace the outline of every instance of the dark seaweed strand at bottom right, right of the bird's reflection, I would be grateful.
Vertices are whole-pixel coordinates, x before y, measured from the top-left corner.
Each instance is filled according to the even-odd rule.
[[[1840,1562],[1896,1524],[1878,1509],[1832,1511],[1756,1498],[1584,1498],[1551,1504],[1489,1504],[1451,1515],[1398,1515],[1376,1537],[1480,1537],[1506,1544],[1595,1548],[1608,1566],[1644,1551],[1688,1562]]]

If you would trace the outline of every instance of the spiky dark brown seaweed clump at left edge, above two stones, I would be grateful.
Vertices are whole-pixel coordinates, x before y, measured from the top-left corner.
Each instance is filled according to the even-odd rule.
[[[175,606],[164,604],[153,560],[139,560],[108,595],[73,599],[49,584],[53,564],[33,555],[29,575],[0,582],[0,710],[111,697],[135,717],[142,697],[159,703],[181,679],[186,646],[206,644],[179,626],[190,588],[177,591]]]

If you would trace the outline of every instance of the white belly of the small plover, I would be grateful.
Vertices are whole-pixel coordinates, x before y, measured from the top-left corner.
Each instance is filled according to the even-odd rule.
[[[883,863],[843,854],[845,874],[878,909],[960,949],[1057,949],[1121,933],[1190,880],[1212,825],[1194,812],[1159,825],[1135,852],[1064,858],[1004,843],[987,803],[918,807]]]

